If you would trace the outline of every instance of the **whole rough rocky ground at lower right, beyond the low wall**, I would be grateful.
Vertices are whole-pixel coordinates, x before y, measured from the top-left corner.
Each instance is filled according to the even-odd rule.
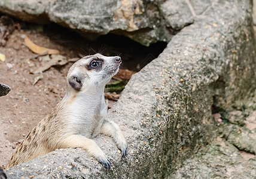
[[[256,111],[234,111],[230,114],[225,124],[220,123],[218,137],[185,161],[169,178],[255,178]],[[232,124],[231,118],[251,125]]]

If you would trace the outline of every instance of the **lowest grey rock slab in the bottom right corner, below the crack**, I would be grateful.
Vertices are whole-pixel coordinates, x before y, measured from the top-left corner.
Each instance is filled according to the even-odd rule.
[[[219,140],[185,161],[184,166],[168,178],[255,178],[255,156],[245,159],[236,147],[221,138]]]

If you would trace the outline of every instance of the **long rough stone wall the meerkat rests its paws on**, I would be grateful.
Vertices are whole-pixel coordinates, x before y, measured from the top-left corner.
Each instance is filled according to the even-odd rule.
[[[169,177],[215,137],[212,105],[229,110],[255,91],[251,11],[248,0],[213,1],[133,75],[109,112],[127,138],[127,157],[120,158],[110,138],[95,138],[112,169],[81,149],[60,149],[7,169],[8,178]]]

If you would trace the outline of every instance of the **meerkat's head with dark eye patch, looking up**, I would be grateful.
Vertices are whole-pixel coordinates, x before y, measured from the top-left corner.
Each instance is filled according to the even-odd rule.
[[[121,57],[106,57],[101,54],[88,55],[75,62],[67,75],[68,86],[75,91],[92,86],[105,86],[117,74]]]

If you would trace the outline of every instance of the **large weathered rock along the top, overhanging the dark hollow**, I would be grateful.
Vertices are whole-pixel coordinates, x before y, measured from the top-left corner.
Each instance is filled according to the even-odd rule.
[[[188,4],[195,8],[195,14],[202,14],[211,1],[4,0],[0,1],[0,12],[36,23],[53,21],[91,39],[110,32],[150,45],[169,42],[175,33],[193,23],[196,17]]]

